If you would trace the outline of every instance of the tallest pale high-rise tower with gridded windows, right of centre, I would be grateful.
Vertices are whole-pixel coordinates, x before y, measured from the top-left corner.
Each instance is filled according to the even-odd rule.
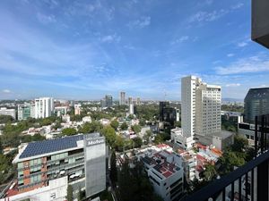
[[[188,76],[181,79],[181,98],[185,147],[191,147],[195,140],[211,144],[213,135],[221,132],[221,87]]]

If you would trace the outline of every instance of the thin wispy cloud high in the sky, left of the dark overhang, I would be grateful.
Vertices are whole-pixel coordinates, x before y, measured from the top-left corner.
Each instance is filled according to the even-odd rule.
[[[189,22],[206,22],[206,21],[216,21],[223,15],[229,13],[228,10],[221,9],[220,11],[213,12],[198,12],[190,17]]]

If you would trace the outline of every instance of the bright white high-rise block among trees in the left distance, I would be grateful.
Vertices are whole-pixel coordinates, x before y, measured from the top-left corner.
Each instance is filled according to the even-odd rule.
[[[35,99],[35,118],[46,118],[51,116],[54,110],[52,97],[40,97]]]

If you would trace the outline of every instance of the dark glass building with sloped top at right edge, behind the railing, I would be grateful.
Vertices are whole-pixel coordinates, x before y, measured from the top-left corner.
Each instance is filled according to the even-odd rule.
[[[244,122],[255,123],[255,116],[269,113],[269,88],[250,88],[244,102]]]

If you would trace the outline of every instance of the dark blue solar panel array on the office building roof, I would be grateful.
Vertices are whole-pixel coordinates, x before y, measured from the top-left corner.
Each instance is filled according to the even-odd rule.
[[[83,135],[70,136],[65,138],[55,138],[39,142],[31,142],[22,152],[20,158],[27,158],[34,155],[44,155],[50,152],[65,150],[77,147],[76,141],[82,140]]]

